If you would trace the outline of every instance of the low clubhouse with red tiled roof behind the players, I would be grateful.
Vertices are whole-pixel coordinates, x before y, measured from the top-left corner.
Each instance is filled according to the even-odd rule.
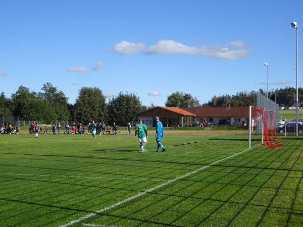
[[[206,122],[209,125],[248,125],[248,107],[167,107],[157,106],[138,113],[146,126],[154,126],[158,116],[165,127],[190,126]],[[252,116],[256,112],[252,109]]]

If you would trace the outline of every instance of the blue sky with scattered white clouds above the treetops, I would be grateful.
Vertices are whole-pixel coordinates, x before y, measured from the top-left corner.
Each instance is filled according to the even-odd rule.
[[[3,1],[0,91],[51,82],[69,103],[83,86],[135,92],[144,105],[175,91],[204,103],[266,90],[265,62],[269,90],[294,87],[290,23],[303,28],[302,11],[300,0]]]

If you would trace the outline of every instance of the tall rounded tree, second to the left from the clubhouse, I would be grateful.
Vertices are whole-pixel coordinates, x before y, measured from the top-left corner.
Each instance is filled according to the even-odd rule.
[[[75,119],[79,122],[107,120],[105,96],[97,87],[82,87],[75,102]]]

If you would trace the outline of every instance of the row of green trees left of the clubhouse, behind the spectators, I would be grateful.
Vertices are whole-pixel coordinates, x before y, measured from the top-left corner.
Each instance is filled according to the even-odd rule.
[[[57,122],[116,122],[126,125],[136,121],[138,112],[150,106],[141,104],[135,93],[120,92],[106,102],[102,90],[97,87],[82,87],[74,104],[53,84],[43,84],[40,92],[30,91],[25,86],[7,98],[0,95],[0,116],[15,116],[20,120]]]

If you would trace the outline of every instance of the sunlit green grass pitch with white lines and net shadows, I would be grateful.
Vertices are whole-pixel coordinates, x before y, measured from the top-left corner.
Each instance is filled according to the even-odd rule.
[[[1,135],[0,226],[303,226],[301,138],[154,140]]]

